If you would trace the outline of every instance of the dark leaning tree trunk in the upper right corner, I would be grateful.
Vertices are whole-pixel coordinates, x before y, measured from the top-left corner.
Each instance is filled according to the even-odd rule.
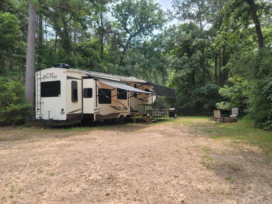
[[[264,39],[262,37],[261,26],[260,26],[260,22],[259,22],[257,13],[256,13],[256,5],[254,3],[254,0],[245,0],[245,2],[247,2],[248,5],[250,6],[251,16],[252,16],[253,22],[255,24],[255,29],[256,29],[256,34],[257,34],[258,50],[260,50],[264,46]]]

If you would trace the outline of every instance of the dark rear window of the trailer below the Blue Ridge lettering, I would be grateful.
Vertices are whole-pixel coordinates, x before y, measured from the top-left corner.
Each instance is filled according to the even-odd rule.
[[[60,81],[42,82],[41,97],[60,96]]]

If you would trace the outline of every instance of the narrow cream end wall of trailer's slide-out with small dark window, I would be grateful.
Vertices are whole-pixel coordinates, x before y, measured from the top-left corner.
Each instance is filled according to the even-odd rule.
[[[83,113],[94,113],[94,99],[96,98],[93,79],[82,79]]]

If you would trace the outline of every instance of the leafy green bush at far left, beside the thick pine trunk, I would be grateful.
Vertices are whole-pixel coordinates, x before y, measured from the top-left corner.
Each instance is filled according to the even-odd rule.
[[[20,124],[31,116],[21,82],[0,77],[0,124]]]

